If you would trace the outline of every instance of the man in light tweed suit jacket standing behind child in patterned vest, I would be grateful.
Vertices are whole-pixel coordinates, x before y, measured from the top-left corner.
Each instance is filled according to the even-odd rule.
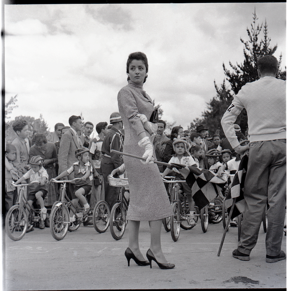
[[[63,134],[60,140],[59,152],[58,152],[58,164],[59,170],[58,174],[67,171],[73,163],[77,162],[75,157],[75,150],[80,146],[83,146],[77,131],[82,129],[81,116],[72,115],[69,118],[70,128]],[[73,180],[74,172],[72,172],[68,177],[64,177],[63,180]],[[74,184],[74,183],[73,183]],[[68,193],[73,191],[74,185],[67,186]]]

